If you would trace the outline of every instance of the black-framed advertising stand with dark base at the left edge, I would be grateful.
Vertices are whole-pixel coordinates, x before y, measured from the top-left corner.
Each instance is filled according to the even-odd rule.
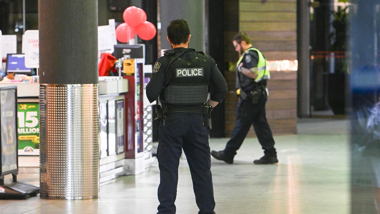
[[[17,86],[0,87],[0,199],[26,199],[36,196],[40,188],[17,182]],[[4,176],[12,174],[12,183]]]

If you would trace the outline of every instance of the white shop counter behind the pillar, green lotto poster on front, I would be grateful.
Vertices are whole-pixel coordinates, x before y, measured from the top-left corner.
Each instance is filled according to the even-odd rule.
[[[147,68],[149,69],[149,67]],[[150,69],[151,71],[151,69]],[[143,77],[143,76],[142,76]],[[132,78],[134,79],[134,78]],[[146,81],[142,84],[142,103],[149,104],[145,94]],[[137,98],[136,85],[130,85],[128,78],[99,77],[99,148],[100,148],[100,183],[106,183],[116,177],[139,174],[152,165],[152,106],[142,106],[141,112],[136,103],[136,112],[131,112],[132,103],[128,97]],[[19,173],[39,173],[39,83],[0,83],[0,86],[17,86],[17,117],[18,117],[18,153]],[[133,86],[133,87],[131,87]],[[138,84],[140,86],[140,84]],[[136,99],[135,99],[136,98]],[[129,106],[128,106],[129,105]],[[141,114],[141,119],[136,113]],[[129,114],[129,115],[128,115]],[[129,139],[130,122],[127,118],[137,119],[134,123],[141,125],[141,136],[138,142]],[[136,133],[133,133],[135,136]],[[131,144],[132,142],[132,144]],[[130,157],[126,157],[127,153]]]

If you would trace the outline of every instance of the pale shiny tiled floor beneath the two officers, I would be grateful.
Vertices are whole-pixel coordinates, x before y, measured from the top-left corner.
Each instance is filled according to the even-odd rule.
[[[326,130],[329,134],[322,134]],[[234,164],[212,159],[215,212],[350,213],[347,121],[302,120],[299,133],[275,136],[280,161],[277,165],[252,163],[262,156],[255,138],[245,140]],[[223,149],[227,140],[211,139],[211,149]],[[100,198],[96,200],[42,200],[37,196],[23,201],[0,201],[0,213],[154,214],[158,205],[158,174],[156,162],[143,174],[120,177],[101,186]],[[177,213],[198,213],[185,159],[180,161],[177,192]]]

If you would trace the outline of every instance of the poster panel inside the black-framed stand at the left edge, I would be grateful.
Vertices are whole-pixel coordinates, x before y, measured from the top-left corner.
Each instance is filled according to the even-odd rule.
[[[17,170],[16,89],[0,91],[1,175]]]

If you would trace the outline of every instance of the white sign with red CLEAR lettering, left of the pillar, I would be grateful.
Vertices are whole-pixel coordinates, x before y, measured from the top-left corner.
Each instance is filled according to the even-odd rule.
[[[40,67],[40,40],[38,30],[25,31],[25,67]]]

